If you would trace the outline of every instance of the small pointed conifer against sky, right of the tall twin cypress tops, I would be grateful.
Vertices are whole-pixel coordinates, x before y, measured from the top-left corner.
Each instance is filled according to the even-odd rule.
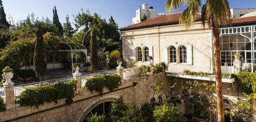
[[[64,37],[73,37],[74,28],[71,26],[71,22],[69,22],[68,15],[66,16],[66,23],[63,24],[63,34]]]

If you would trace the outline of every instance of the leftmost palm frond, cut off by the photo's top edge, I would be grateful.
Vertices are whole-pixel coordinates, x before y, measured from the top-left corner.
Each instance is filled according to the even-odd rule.
[[[167,0],[166,2],[166,10],[177,10],[180,9],[180,7],[184,6],[185,3],[188,3],[189,0]]]

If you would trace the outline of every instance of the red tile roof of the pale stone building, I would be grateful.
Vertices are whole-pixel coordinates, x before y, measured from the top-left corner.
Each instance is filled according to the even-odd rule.
[[[146,20],[144,22],[133,24],[132,26],[127,26],[125,28],[121,28],[120,30],[133,30],[137,28],[146,28],[146,27],[154,27],[154,26],[161,26],[166,24],[177,24],[179,23],[180,16],[183,12],[177,12],[174,14],[166,14],[166,15],[160,15],[156,18]],[[201,19],[201,14],[196,15],[197,20]],[[232,24],[237,23],[245,23],[245,22],[256,22],[256,16],[250,16],[246,18],[236,18],[232,19]]]

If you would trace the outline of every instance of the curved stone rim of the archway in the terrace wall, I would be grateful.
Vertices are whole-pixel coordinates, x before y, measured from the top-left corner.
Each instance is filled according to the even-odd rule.
[[[118,99],[118,98],[120,98],[120,96],[117,96],[117,95],[103,95],[97,98],[92,98],[91,100],[86,102],[84,106],[82,106],[79,109],[73,121],[82,122],[82,120],[84,120],[84,117],[90,112],[90,110],[92,110],[98,104],[102,102],[114,101],[115,99]]]

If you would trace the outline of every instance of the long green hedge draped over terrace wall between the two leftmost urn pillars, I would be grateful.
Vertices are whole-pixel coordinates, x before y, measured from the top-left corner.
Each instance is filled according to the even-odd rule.
[[[68,83],[59,82],[53,85],[36,86],[22,91],[16,96],[16,103],[20,106],[38,107],[45,102],[55,102],[59,99],[71,100],[75,96],[76,81]]]

